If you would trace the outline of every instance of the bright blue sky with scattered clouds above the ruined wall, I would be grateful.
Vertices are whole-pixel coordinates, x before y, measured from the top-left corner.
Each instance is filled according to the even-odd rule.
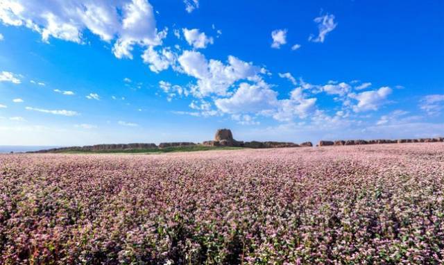
[[[7,0],[0,144],[444,135],[443,1]]]

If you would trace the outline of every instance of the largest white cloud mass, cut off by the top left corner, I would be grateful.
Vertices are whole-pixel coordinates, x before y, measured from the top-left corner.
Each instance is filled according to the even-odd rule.
[[[42,35],[85,43],[83,31],[89,30],[105,42],[114,42],[117,58],[133,58],[133,46],[158,45],[165,32],[157,32],[153,6],[147,0],[40,1],[7,0],[0,5],[0,21],[11,26],[26,26]]]

